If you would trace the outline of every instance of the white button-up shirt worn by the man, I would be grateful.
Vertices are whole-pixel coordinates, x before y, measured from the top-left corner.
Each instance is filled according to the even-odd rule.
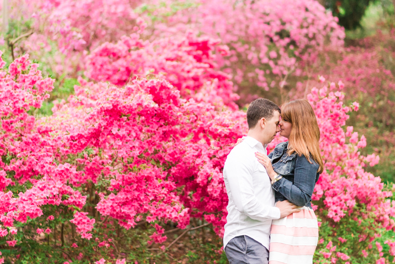
[[[224,249],[228,242],[240,235],[255,239],[267,249],[273,219],[280,218],[275,207],[275,194],[265,167],[255,152],[266,154],[266,145],[246,136],[229,153],[224,166],[224,181],[228,193],[224,233]]]

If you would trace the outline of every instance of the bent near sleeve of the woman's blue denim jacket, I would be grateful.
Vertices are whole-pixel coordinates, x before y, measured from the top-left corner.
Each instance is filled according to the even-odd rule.
[[[281,178],[273,184],[273,188],[288,201],[297,206],[306,206],[312,198],[316,186],[318,164],[311,164],[305,156],[298,156],[295,162],[294,182]]]

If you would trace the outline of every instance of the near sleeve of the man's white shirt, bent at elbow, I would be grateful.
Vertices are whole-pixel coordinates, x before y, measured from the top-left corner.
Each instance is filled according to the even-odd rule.
[[[252,181],[254,163],[253,159],[230,159],[225,164],[226,177],[228,178],[237,211],[251,219],[266,221],[280,218],[277,207],[259,201],[254,193]],[[270,188],[268,189],[270,190]]]

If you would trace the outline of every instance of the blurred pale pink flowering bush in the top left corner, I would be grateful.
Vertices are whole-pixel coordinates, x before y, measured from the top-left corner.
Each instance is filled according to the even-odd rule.
[[[14,30],[32,32],[14,53],[31,53],[45,62],[46,72],[61,78],[77,77],[84,70],[86,53],[106,41],[144,29],[134,8],[139,0],[10,0],[9,17]],[[1,6],[0,6],[1,8]],[[15,38],[15,33],[10,36]],[[48,54],[50,54],[48,56]]]

